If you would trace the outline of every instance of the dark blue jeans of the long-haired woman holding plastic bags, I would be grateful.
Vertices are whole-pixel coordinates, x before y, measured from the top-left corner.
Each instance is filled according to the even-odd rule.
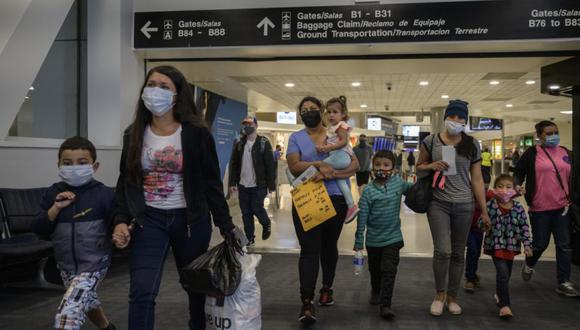
[[[185,209],[147,207],[143,227],[135,226],[131,234],[129,330],[149,330],[155,326],[155,298],[169,248],[179,269],[207,251],[210,238],[208,219],[192,224],[188,231]],[[190,329],[205,329],[205,296],[188,295]]]

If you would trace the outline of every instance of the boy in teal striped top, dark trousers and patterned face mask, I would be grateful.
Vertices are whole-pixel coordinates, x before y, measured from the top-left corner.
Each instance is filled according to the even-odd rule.
[[[366,246],[371,275],[370,304],[380,305],[379,314],[391,320],[391,298],[399,265],[399,250],[403,247],[401,233],[401,196],[413,185],[392,175],[395,155],[380,150],[372,160],[373,177],[359,200],[354,250]],[[366,235],[365,235],[366,229]],[[366,236],[366,237],[365,237]]]

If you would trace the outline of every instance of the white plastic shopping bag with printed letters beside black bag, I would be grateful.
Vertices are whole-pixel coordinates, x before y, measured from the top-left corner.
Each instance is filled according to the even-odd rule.
[[[256,267],[262,260],[259,254],[238,256],[242,265],[242,280],[233,295],[225,297],[217,306],[216,298],[205,298],[205,327],[207,330],[258,330],[262,328],[262,301]]]

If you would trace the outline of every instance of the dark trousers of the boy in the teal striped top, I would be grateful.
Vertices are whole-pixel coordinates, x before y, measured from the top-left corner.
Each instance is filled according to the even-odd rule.
[[[403,241],[401,241],[383,247],[366,247],[369,254],[371,288],[373,292],[379,293],[382,306],[391,307],[400,260],[399,251],[403,246]]]

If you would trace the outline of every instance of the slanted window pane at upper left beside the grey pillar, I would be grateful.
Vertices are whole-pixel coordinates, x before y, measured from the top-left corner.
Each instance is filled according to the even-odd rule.
[[[85,1],[72,5],[10,127],[10,136],[86,135]]]

